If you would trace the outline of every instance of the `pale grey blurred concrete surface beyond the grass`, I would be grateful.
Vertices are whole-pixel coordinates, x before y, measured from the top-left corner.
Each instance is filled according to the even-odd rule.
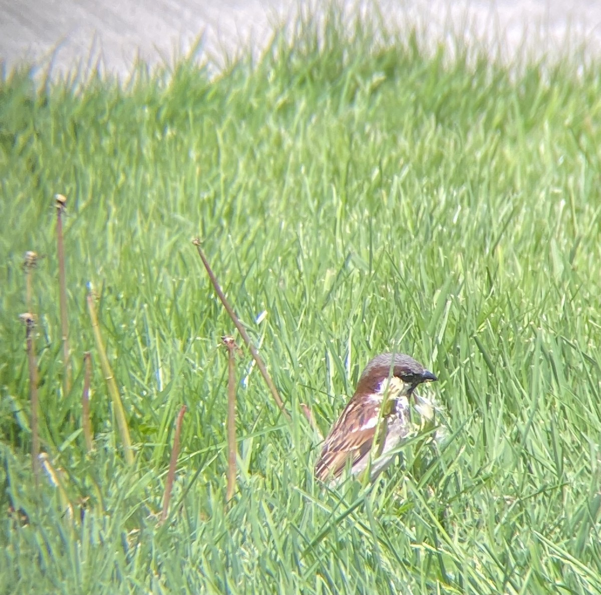
[[[556,52],[581,43],[601,54],[600,0],[374,0],[386,20],[404,30],[421,26],[430,41],[453,29],[511,59]],[[127,75],[136,56],[171,61],[198,38],[219,66],[250,43],[260,52],[277,23],[289,22],[309,2],[298,0],[0,0],[0,61],[9,69],[32,61],[53,73],[79,64]],[[315,5],[315,2],[312,3]],[[318,3],[322,4],[322,3]],[[345,2],[370,10],[373,2]],[[96,65],[96,66],[95,66]]]

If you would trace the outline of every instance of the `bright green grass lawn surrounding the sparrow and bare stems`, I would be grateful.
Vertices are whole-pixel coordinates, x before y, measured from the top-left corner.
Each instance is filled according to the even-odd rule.
[[[511,69],[461,44],[451,59],[335,13],[319,31],[305,20],[216,78],[184,59],[123,85],[36,87],[28,70],[0,83],[0,593],[601,591],[599,62]],[[56,193],[69,199],[66,394]],[[291,415],[245,352],[229,508],[218,344],[234,328],[196,236]],[[31,471],[28,250],[45,255],[40,442],[61,489],[44,471],[35,489]],[[447,438],[438,453],[408,444],[373,487],[323,490],[301,404],[325,433],[392,348],[438,375]]]

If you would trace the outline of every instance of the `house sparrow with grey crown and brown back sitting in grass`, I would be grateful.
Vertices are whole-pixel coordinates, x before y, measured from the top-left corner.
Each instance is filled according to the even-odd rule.
[[[339,478],[350,460],[353,475],[369,466],[373,481],[392,462],[395,449],[411,430],[409,397],[416,386],[431,380],[438,378],[408,355],[382,353],[373,358],[325,439],[315,466],[317,479]],[[419,414],[432,421],[432,406],[417,395],[414,398]]]

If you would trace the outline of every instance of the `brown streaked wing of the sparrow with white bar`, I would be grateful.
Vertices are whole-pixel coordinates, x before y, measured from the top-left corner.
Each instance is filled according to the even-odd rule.
[[[349,401],[325,440],[315,465],[317,479],[338,477],[348,460],[355,465],[369,453],[376,433],[376,424],[369,422],[377,415],[376,404],[356,397]]]

